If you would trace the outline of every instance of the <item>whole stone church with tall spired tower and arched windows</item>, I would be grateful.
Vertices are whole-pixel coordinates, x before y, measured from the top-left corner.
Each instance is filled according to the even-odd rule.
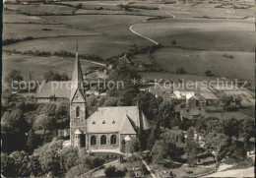
[[[76,53],[70,93],[71,146],[92,149],[118,149],[135,138],[137,128],[151,129],[145,115],[137,106],[98,107],[87,117],[86,90],[83,73]]]

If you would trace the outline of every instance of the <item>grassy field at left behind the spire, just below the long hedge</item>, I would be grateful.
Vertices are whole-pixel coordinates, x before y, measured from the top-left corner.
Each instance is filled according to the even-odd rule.
[[[30,71],[32,72],[32,80],[43,80],[44,73],[52,70],[53,72],[67,73],[69,78],[72,77],[74,60],[70,58],[62,58],[57,56],[52,57],[35,57],[27,55],[7,55],[2,56],[2,77],[12,70],[19,70],[22,72],[25,80],[29,80]],[[91,67],[97,65],[81,61],[82,70],[85,73]]]

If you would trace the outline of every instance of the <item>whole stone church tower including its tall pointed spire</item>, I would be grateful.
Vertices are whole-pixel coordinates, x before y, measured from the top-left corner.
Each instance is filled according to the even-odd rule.
[[[77,47],[70,94],[70,141],[74,147],[86,146],[86,93],[83,82]]]

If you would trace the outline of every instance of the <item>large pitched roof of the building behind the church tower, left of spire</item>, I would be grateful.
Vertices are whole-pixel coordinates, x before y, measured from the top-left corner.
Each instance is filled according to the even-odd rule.
[[[36,97],[60,97],[60,98],[69,98],[70,97],[70,88],[68,82],[48,82],[43,83],[41,89],[36,90]]]

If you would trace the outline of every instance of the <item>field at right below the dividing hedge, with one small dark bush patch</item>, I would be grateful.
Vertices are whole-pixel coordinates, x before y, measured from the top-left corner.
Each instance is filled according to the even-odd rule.
[[[233,58],[224,57],[224,54]],[[248,80],[254,84],[253,52],[184,50],[166,47],[158,50],[154,57],[160,67],[168,72],[175,73],[177,68],[183,68],[188,74],[205,75],[205,72],[210,70],[216,77]]]

